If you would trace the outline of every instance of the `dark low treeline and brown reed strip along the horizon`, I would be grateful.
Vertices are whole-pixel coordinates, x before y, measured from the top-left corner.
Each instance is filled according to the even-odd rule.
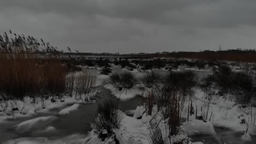
[[[128,58],[155,58],[155,57],[171,57],[171,58],[189,58],[201,59],[206,61],[234,61],[234,62],[256,62],[255,49],[231,49],[211,51],[205,50],[200,52],[193,51],[172,51],[172,52],[155,52],[155,53],[84,53],[84,52],[62,52],[62,55],[77,56],[118,56]]]

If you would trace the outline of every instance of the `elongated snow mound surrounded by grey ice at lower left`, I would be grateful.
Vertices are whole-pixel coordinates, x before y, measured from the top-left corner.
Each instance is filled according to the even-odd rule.
[[[49,117],[38,117],[34,119],[30,119],[28,121],[22,122],[16,126],[16,131],[18,133],[26,133],[32,130],[38,130],[46,127],[51,122],[55,121],[57,117],[49,116]]]

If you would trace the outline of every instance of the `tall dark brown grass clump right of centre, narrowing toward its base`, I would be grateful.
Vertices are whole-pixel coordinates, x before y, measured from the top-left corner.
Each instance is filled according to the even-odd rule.
[[[194,94],[193,87],[196,85],[194,73],[170,73],[163,83],[154,87],[154,98],[164,119],[168,119],[170,135],[178,133],[181,120],[181,112],[185,100]]]

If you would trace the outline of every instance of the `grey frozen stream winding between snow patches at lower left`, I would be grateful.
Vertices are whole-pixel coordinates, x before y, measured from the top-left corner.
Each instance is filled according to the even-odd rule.
[[[99,87],[101,92],[96,95],[96,97],[102,97],[102,99],[113,98],[115,97],[111,94],[108,89],[103,87]],[[121,108],[123,111],[135,110],[137,104],[141,104],[142,97],[136,97],[130,100],[121,101]],[[90,120],[91,116],[93,116],[94,112],[97,109],[97,103],[100,100],[96,100],[96,104],[80,104],[78,110],[72,111],[67,115],[57,115],[59,111],[64,109],[65,107],[71,106],[66,105],[65,107],[60,107],[59,109],[53,109],[52,113],[38,113],[36,116],[26,117],[26,118],[18,118],[10,121],[5,121],[0,123],[0,143],[18,139],[20,137],[48,137],[49,139],[60,139],[61,137],[65,137],[72,134],[86,134],[91,130],[90,128]],[[19,134],[15,131],[15,125],[27,121],[29,119],[43,117],[43,116],[56,116],[57,119],[50,123],[49,126],[56,128],[56,130],[51,131],[50,133],[37,133],[36,131],[30,131],[25,134]]]

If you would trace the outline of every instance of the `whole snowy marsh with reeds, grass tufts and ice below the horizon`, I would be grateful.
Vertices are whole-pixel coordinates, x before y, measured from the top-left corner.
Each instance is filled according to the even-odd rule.
[[[4,38],[0,143],[256,142],[254,63],[62,57]]]

